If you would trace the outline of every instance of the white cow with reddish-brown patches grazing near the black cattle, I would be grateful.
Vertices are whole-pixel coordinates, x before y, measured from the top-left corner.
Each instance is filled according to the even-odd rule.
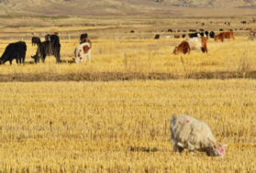
[[[91,62],[91,46],[89,43],[83,43],[77,46],[74,49],[75,62],[81,63],[86,61],[86,57],[88,57],[88,61]]]

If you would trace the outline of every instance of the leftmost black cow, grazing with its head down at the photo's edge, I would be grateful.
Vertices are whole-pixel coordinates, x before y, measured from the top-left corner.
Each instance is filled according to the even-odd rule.
[[[19,41],[17,43],[11,43],[6,47],[5,52],[3,53],[2,57],[0,58],[0,64],[5,64],[6,61],[10,62],[12,65],[12,60],[16,59],[16,62],[21,64],[24,63],[26,58],[27,52],[27,45],[23,41]]]

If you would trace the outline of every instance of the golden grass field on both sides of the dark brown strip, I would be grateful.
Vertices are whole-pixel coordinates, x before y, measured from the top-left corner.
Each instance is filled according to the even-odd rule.
[[[187,80],[196,72],[255,70],[255,43],[208,41],[208,54],[173,55],[183,39],[95,39],[92,62],[69,63],[78,40],[61,40],[61,64],[29,64],[36,47],[26,40],[25,65],[8,63],[1,75],[172,73],[169,81],[2,82],[0,172],[255,172],[253,80]],[[0,41],[0,54],[10,43]],[[184,62],[182,62],[182,59]],[[113,74],[113,73],[111,73]],[[172,114],[206,122],[224,159],[175,154]]]

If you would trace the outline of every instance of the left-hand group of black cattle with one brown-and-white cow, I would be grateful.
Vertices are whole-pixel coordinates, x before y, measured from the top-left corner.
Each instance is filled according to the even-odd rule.
[[[59,36],[46,35],[45,41],[41,42],[40,38],[33,37],[32,38],[32,46],[37,45],[38,49],[36,55],[31,56],[32,59],[35,60],[35,63],[39,63],[39,59],[42,62],[45,61],[46,56],[53,55],[56,58],[57,63],[61,62],[61,44]],[[92,42],[89,38],[87,38],[87,34],[82,34],[80,36],[80,45],[77,46],[74,50],[73,59],[76,63],[80,63],[86,60],[88,57],[89,62],[91,61],[91,49]],[[24,63],[26,58],[27,45],[24,41],[19,41],[16,43],[10,43],[2,57],[0,58],[0,64],[5,64],[6,61],[9,61],[12,64],[12,60],[16,59],[17,63]]]

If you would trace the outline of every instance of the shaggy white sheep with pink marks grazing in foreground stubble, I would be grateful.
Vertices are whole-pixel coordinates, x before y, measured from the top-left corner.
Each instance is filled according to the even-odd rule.
[[[206,152],[208,156],[223,158],[225,155],[224,146],[228,145],[223,145],[223,140],[221,146],[218,145],[210,127],[204,122],[188,115],[173,114],[170,129],[175,152],[182,152],[187,148],[191,155],[194,155],[195,150]]]

